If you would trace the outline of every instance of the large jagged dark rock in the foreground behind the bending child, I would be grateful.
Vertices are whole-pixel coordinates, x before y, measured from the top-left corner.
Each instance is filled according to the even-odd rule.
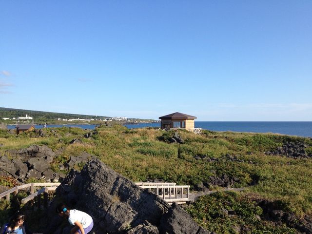
[[[80,173],[71,171],[58,187],[49,214],[54,213],[59,201],[91,215],[93,234],[209,233],[178,205],[171,207],[98,159],[89,161]],[[61,230],[54,222],[46,232],[56,234]]]

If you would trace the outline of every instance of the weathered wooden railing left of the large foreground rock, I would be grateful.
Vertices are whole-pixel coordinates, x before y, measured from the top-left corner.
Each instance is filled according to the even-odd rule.
[[[19,190],[27,189],[29,188],[30,195],[21,199],[21,203],[24,204],[30,200],[33,200],[36,196],[43,194],[43,203],[47,203],[48,198],[48,192],[49,191],[55,191],[57,187],[60,185],[60,183],[29,183],[29,184],[23,184],[16,186],[12,189],[9,189],[2,194],[0,194],[0,198],[6,197],[6,200],[10,201],[10,194],[17,195],[19,193]],[[44,188],[40,189],[39,191],[35,192],[35,187],[42,187]]]

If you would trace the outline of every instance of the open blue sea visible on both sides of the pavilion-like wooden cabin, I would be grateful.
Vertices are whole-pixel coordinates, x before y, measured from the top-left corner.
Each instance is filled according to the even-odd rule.
[[[160,127],[160,123],[127,124],[128,128]],[[312,137],[312,122],[204,122],[195,121],[195,128],[212,131],[279,133]]]

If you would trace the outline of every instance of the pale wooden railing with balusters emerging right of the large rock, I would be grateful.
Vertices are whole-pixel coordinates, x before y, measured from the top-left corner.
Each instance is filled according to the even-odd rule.
[[[190,185],[176,185],[176,183],[137,182],[139,187],[160,196],[169,204],[182,204],[190,200]]]

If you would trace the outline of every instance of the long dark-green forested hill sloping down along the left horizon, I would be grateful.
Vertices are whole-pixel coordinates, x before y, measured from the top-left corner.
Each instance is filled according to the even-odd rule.
[[[109,118],[105,116],[87,116],[87,115],[76,115],[76,114],[66,114],[66,113],[54,113],[54,112],[44,112],[44,111],[30,111],[30,110],[21,110],[21,109],[12,109],[12,108],[3,108],[0,107],[0,118],[8,117],[24,117],[30,116],[34,118],[44,118],[44,119],[56,119],[56,118],[85,118],[85,119],[100,119],[100,118]]]

